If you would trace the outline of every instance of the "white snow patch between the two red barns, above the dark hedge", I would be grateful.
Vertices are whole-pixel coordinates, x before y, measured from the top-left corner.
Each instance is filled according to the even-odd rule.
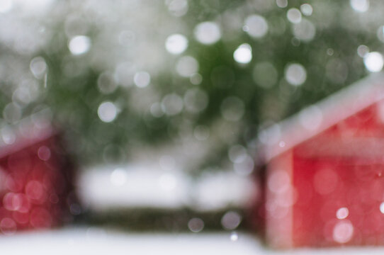
[[[177,168],[129,164],[81,171],[78,191],[84,205],[95,211],[151,207],[220,210],[246,206],[257,189],[251,176],[235,171],[216,171],[193,179]]]

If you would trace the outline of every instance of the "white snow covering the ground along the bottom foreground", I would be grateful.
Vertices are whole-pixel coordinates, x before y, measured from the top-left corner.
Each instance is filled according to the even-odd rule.
[[[0,237],[1,254],[383,254],[384,247],[271,251],[256,237],[229,233],[136,234],[67,228]]]

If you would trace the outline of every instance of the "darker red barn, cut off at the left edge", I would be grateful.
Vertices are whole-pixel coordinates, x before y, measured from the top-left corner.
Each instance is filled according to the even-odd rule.
[[[71,221],[80,210],[72,179],[60,135],[41,113],[0,128],[0,234]]]

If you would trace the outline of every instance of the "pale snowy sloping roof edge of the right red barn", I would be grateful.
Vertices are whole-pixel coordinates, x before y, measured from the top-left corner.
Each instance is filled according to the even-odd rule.
[[[384,74],[375,73],[259,132],[258,151],[268,162],[384,98]]]

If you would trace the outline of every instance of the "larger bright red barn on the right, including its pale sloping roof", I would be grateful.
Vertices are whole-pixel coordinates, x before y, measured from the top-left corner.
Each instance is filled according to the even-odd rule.
[[[384,244],[384,75],[259,132],[277,248]]]

